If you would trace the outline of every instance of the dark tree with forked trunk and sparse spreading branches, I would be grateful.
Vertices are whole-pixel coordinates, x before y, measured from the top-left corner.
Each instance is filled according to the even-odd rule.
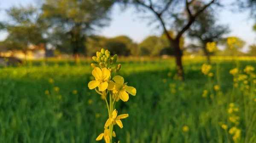
[[[175,52],[175,60],[177,65],[177,71],[179,71],[179,76],[184,80],[184,71],[182,66],[182,50],[180,48],[180,38],[189,29],[189,27],[195,22],[196,17],[199,16],[207,7],[216,3],[217,0],[210,0],[208,3],[202,5],[198,11],[191,9],[193,3],[196,0],[162,0],[152,1],[152,0],[119,0],[123,3],[134,4],[139,11],[151,11],[154,17],[157,19],[151,20],[160,22],[166,36],[170,43],[172,43]],[[183,3],[182,3],[183,2]],[[185,13],[184,13],[185,12]],[[186,22],[180,23],[182,26],[175,28],[175,36],[172,37],[168,33],[169,22],[179,21],[182,17]],[[182,20],[182,21],[184,21]]]

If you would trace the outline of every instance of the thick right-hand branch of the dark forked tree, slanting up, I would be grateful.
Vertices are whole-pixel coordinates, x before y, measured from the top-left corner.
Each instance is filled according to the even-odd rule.
[[[214,3],[215,0],[212,0],[210,3],[208,3],[207,5],[205,5],[202,9],[200,9],[197,13],[195,13],[195,15],[189,15],[189,22],[182,28],[182,30],[180,32],[178,32],[175,40],[180,39],[180,37],[182,36],[182,34],[189,29],[190,25],[192,25],[192,23],[195,21],[195,18],[198,17],[199,14],[201,14],[208,6],[210,6],[212,3]],[[191,1],[192,2],[192,1]],[[186,3],[189,4],[189,3]],[[187,7],[187,6],[186,6]]]

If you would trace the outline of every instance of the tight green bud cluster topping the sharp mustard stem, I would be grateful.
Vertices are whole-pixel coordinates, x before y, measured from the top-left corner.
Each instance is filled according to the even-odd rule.
[[[114,56],[110,56],[110,52],[105,49],[101,49],[100,52],[96,52],[96,56],[93,56],[93,61],[95,61],[97,64],[91,64],[91,67],[94,69],[95,67],[107,67],[109,70],[115,71],[117,73],[120,68],[121,64],[118,64],[116,67],[112,67],[113,64],[116,63],[117,60],[117,55],[115,54]]]

